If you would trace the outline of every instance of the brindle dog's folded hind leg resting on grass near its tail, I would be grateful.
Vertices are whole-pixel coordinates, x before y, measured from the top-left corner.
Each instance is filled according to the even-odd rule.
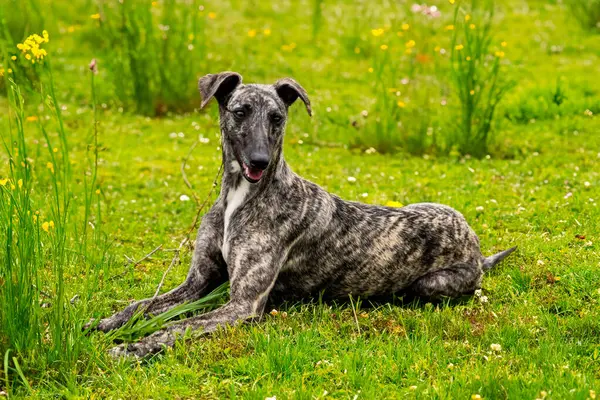
[[[459,297],[479,289],[482,275],[479,265],[455,265],[423,275],[405,292],[428,299]]]

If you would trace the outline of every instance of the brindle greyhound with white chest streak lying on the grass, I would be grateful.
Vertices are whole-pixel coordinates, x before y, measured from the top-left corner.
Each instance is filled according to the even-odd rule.
[[[311,114],[293,79],[242,84],[235,72],[200,79],[202,107],[219,103],[223,163],[221,193],[202,219],[187,279],[172,291],[131,304],[100,321],[107,332],[138,309],[159,314],[230,281],[222,307],[158,331],[113,355],[144,356],[172,346],[187,329],[260,318],[268,299],[332,298],[410,293],[456,297],[479,288],[483,273],[514,248],[484,257],[464,217],[440,204],[402,208],[344,201],[296,175],[283,159],[288,108]]]

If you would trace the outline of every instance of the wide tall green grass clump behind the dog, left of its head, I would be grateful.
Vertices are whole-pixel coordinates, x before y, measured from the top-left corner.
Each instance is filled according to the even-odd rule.
[[[93,17],[117,97],[150,116],[193,109],[205,58],[200,3],[99,2],[98,11]]]

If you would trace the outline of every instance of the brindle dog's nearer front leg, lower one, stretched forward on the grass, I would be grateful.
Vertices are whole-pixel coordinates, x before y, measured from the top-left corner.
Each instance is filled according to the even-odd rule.
[[[113,356],[143,357],[157,353],[165,346],[173,346],[186,330],[213,332],[218,326],[260,318],[281,267],[280,254],[272,248],[261,248],[246,243],[230,257],[231,300],[209,313],[190,318],[155,332],[137,343],[122,344],[111,350]],[[266,247],[266,246],[265,246]],[[280,250],[279,250],[280,251]]]

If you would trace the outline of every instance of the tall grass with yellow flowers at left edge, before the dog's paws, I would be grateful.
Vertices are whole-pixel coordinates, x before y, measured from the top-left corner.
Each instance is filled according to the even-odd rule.
[[[99,268],[107,265],[95,180],[97,131],[89,144],[90,162],[74,171],[50,60],[42,48],[47,38],[44,33],[34,36],[37,46],[19,46],[19,57],[36,60],[43,91],[24,95],[5,76],[9,109],[0,154],[7,161],[0,170],[0,353],[7,391],[19,381],[29,387],[26,376],[50,375],[64,385],[77,379],[82,354],[93,353],[81,329],[87,303],[77,299],[92,292]],[[39,107],[28,104],[36,99]],[[91,177],[84,178],[84,193],[76,185],[80,174]],[[92,220],[95,234],[88,235]],[[81,296],[67,281],[85,289]]]

